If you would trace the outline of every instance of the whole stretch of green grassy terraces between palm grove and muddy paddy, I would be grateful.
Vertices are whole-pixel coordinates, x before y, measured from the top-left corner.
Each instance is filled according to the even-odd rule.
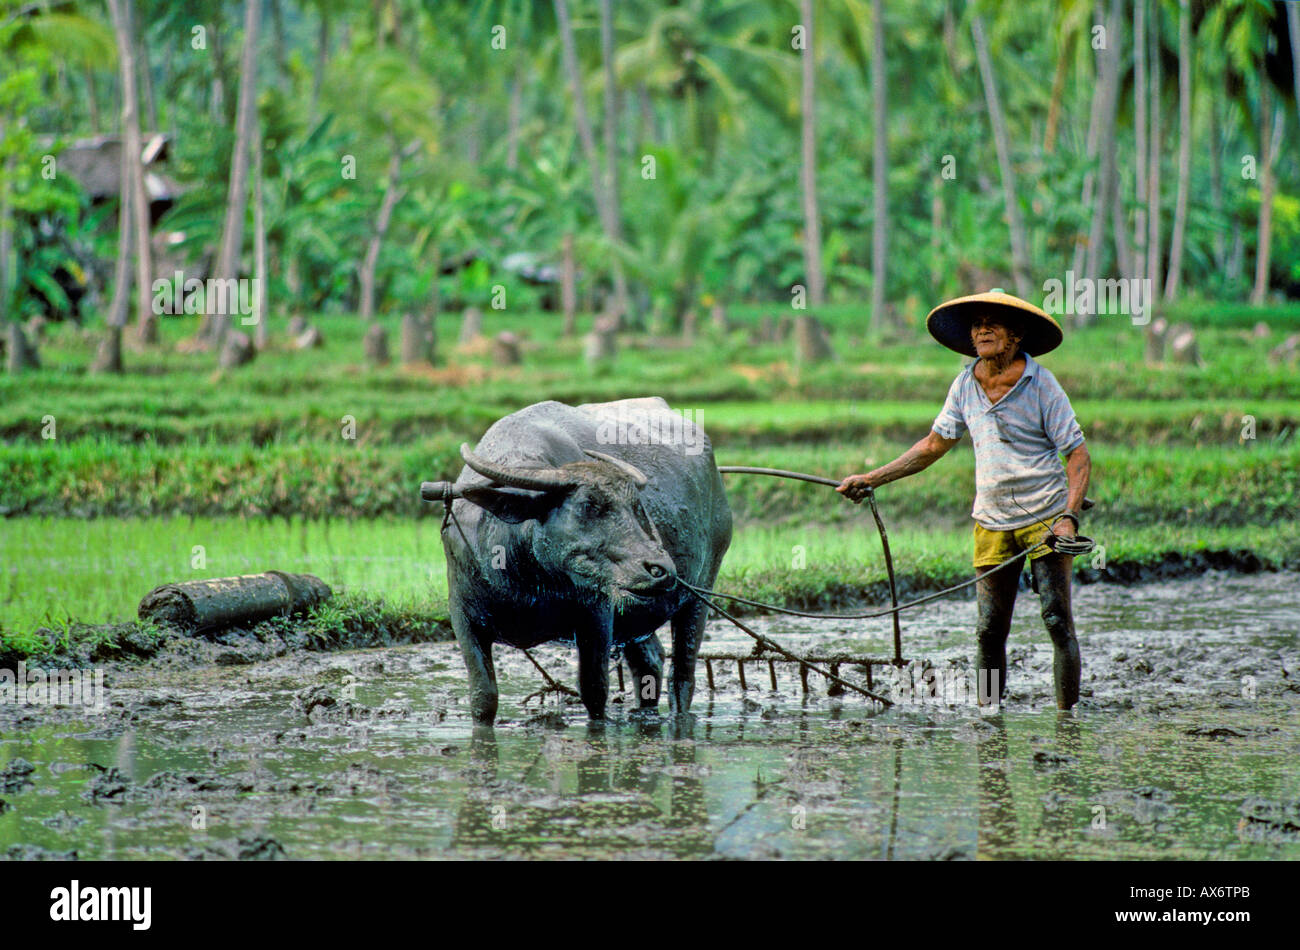
[[[78,624],[129,619],[165,581],[266,568],[318,573],[347,591],[311,621],[324,641],[339,624],[428,625],[445,595],[441,507],[419,500],[419,483],[455,476],[460,442],[508,412],[663,395],[697,413],[722,464],[842,477],[928,431],[962,364],[923,334],[919,312],[910,331],[876,337],[858,308],[833,307],[819,316],[837,359],[800,368],[792,343],[749,340],[763,316],[789,313],[733,308],[740,329],[702,327],[690,348],[629,334],[612,364],[588,368],[581,340],[558,337],[555,315],[488,312],[486,333],[526,339],[524,364],[498,368],[484,347],[455,347],[459,315],[445,315],[434,372],[365,366],[363,325],[321,317],[324,348],[273,348],[233,373],[216,372],[212,353],[178,352],[196,321],[168,318],[165,346],[129,351],[116,377],[86,374],[98,333],[53,326],[44,369],[0,376],[0,630],[29,651],[42,626],[112,637]],[[1268,353],[1300,325],[1300,307],[1190,302],[1164,316],[1197,327],[1206,365],[1147,365],[1143,330],[1123,317],[1067,330],[1043,360],[1089,439],[1098,507],[1086,530],[1112,559],[1234,547],[1287,563],[1300,547],[1300,374]],[[382,321],[395,348],[398,321]],[[1265,339],[1249,333],[1261,321]],[[1254,439],[1243,439],[1247,416]],[[344,417],[355,438],[343,437]],[[968,573],[972,476],[963,441],[923,476],[880,490],[913,582]],[[809,603],[879,584],[864,508],[786,481],[727,483],[741,526],[728,584]],[[202,569],[191,567],[195,545],[207,552]],[[807,560],[792,569],[796,546]]]

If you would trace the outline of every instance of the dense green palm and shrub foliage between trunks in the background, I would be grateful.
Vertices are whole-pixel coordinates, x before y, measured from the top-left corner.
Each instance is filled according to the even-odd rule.
[[[32,4],[26,16],[8,19],[20,6],[18,0],[0,3],[0,61],[5,71],[17,70],[0,87],[0,114],[10,130],[0,159],[10,169],[13,183],[5,187],[16,211],[56,213],[70,186],[60,185],[56,195],[53,183],[40,181],[46,149],[25,142],[14,126],[27,129],[29,138],[39,130],[66,142],[109,125],[112,35],[98,3],[58,4],[57,10]],[[151,79],[143,121],[174,133],[169,172],[186,188],[160,227],[183,234],[179,248],[198,260],[220,238],[237,91],[251,81],[238,68],[242,4],[138,0],[135,6],[142,66]],[[569,6],[599,135],[606,116],[598,9],[588,0]],[[1249,290],[1261,182],[1257,168],[1247,174],[1242,162],[1258,164],[1270,104],[1294,112],[1282,6],[1191,4],[1199,95],[1182,292],[1244,299]],[[994,55],[1031,283],[1037,292],[1044,281],[1063,278],[1075,247],[1088,239],[1093,213],[1084,199],[1084,181],[1097,169],[1088,139],[1100,52],[1092,5],[913,0],[884,9],[885,279],[893,317],[876,325],[907,321],[933,299],[972,285],[1010,286],[1005,196],[971,43],[976,16],[987,21]],[[1165,116],[1166,251],[1182,174],[1178,9],[1156,0],[1148,17],[1162,66],[1156,99]],[[506,290],[512,308],[532,309],[543,298],[554,305],[554,290],[504,263],[528,251],[555,265],[566,234],[577,239],[581,292],[602,292],[619,260],[641,316],[675,321],[710,296],[789,302],[792,287],[807,282],[797,13],[797,4],[779,0],[614,5],[610,68],[621,108],[612,159],[623,238],[612,240],[601,226],[577,142],[551,3],[264,4],[256,82],[269,299],[291,312],[356,309],[358,270],[390,185],[389,160],[410,146],[399,172],[404,191],[377,263],[384,311],[426,307],[436,289],[446,305],[488,305],[494,287]],[[1121,13],[1115,186],[1131,231],[1141,204],[1131,144],[1138,134],[1132,4],[1122,4]],[[862,0],[820,3],[818,17],[820,257],[829,299],[852,302],[866,299],[878,279],[868,237],[876,25]],[[204,31],[202,45],[196,29]],[[1295,114],[1280,127],[1270,283],[1294,295],[1300,292]],[[74,218],[65,216],[64,226],[79,227]],[[103,234],[113,222],[94,225]],[[30,220],[18,224],[21,231]],[[57,263],[39,260],[21,240],[16,261],[14,303],[27,313],[34,302],[23,287],[49,290]],[[1118,261],[1104,266],[1108,276],[1121,270]],[[64,311],[57,291],[52,298],[56,312]]]

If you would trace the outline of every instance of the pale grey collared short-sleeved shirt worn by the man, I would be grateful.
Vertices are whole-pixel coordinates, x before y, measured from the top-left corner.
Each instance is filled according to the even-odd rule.
[[[975,443],[975,507],[971,517],[1006,532],[1050,521],[1065,511],[1067,481],[1060,456],[1083,444],[1083,430],[1052,370],[1026,352],[1024,372],[991,403],[974,363],[953,379],[932,426],[945,439],[970,429]]]

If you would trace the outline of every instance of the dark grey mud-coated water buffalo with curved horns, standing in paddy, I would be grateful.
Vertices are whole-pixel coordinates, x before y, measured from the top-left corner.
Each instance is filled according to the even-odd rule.
[[[712,587],[732,533],[703,430],[658,396],[545,402],[498,420],[460,455],[442,545],[474,721],[497,716],[493,643],[573,638],[593,720],[604,719],[610,654],[621,646],[641,707],[655,708],[655,630],[668,621],[668,707],[686,712],[706,611],[677,578]]]

